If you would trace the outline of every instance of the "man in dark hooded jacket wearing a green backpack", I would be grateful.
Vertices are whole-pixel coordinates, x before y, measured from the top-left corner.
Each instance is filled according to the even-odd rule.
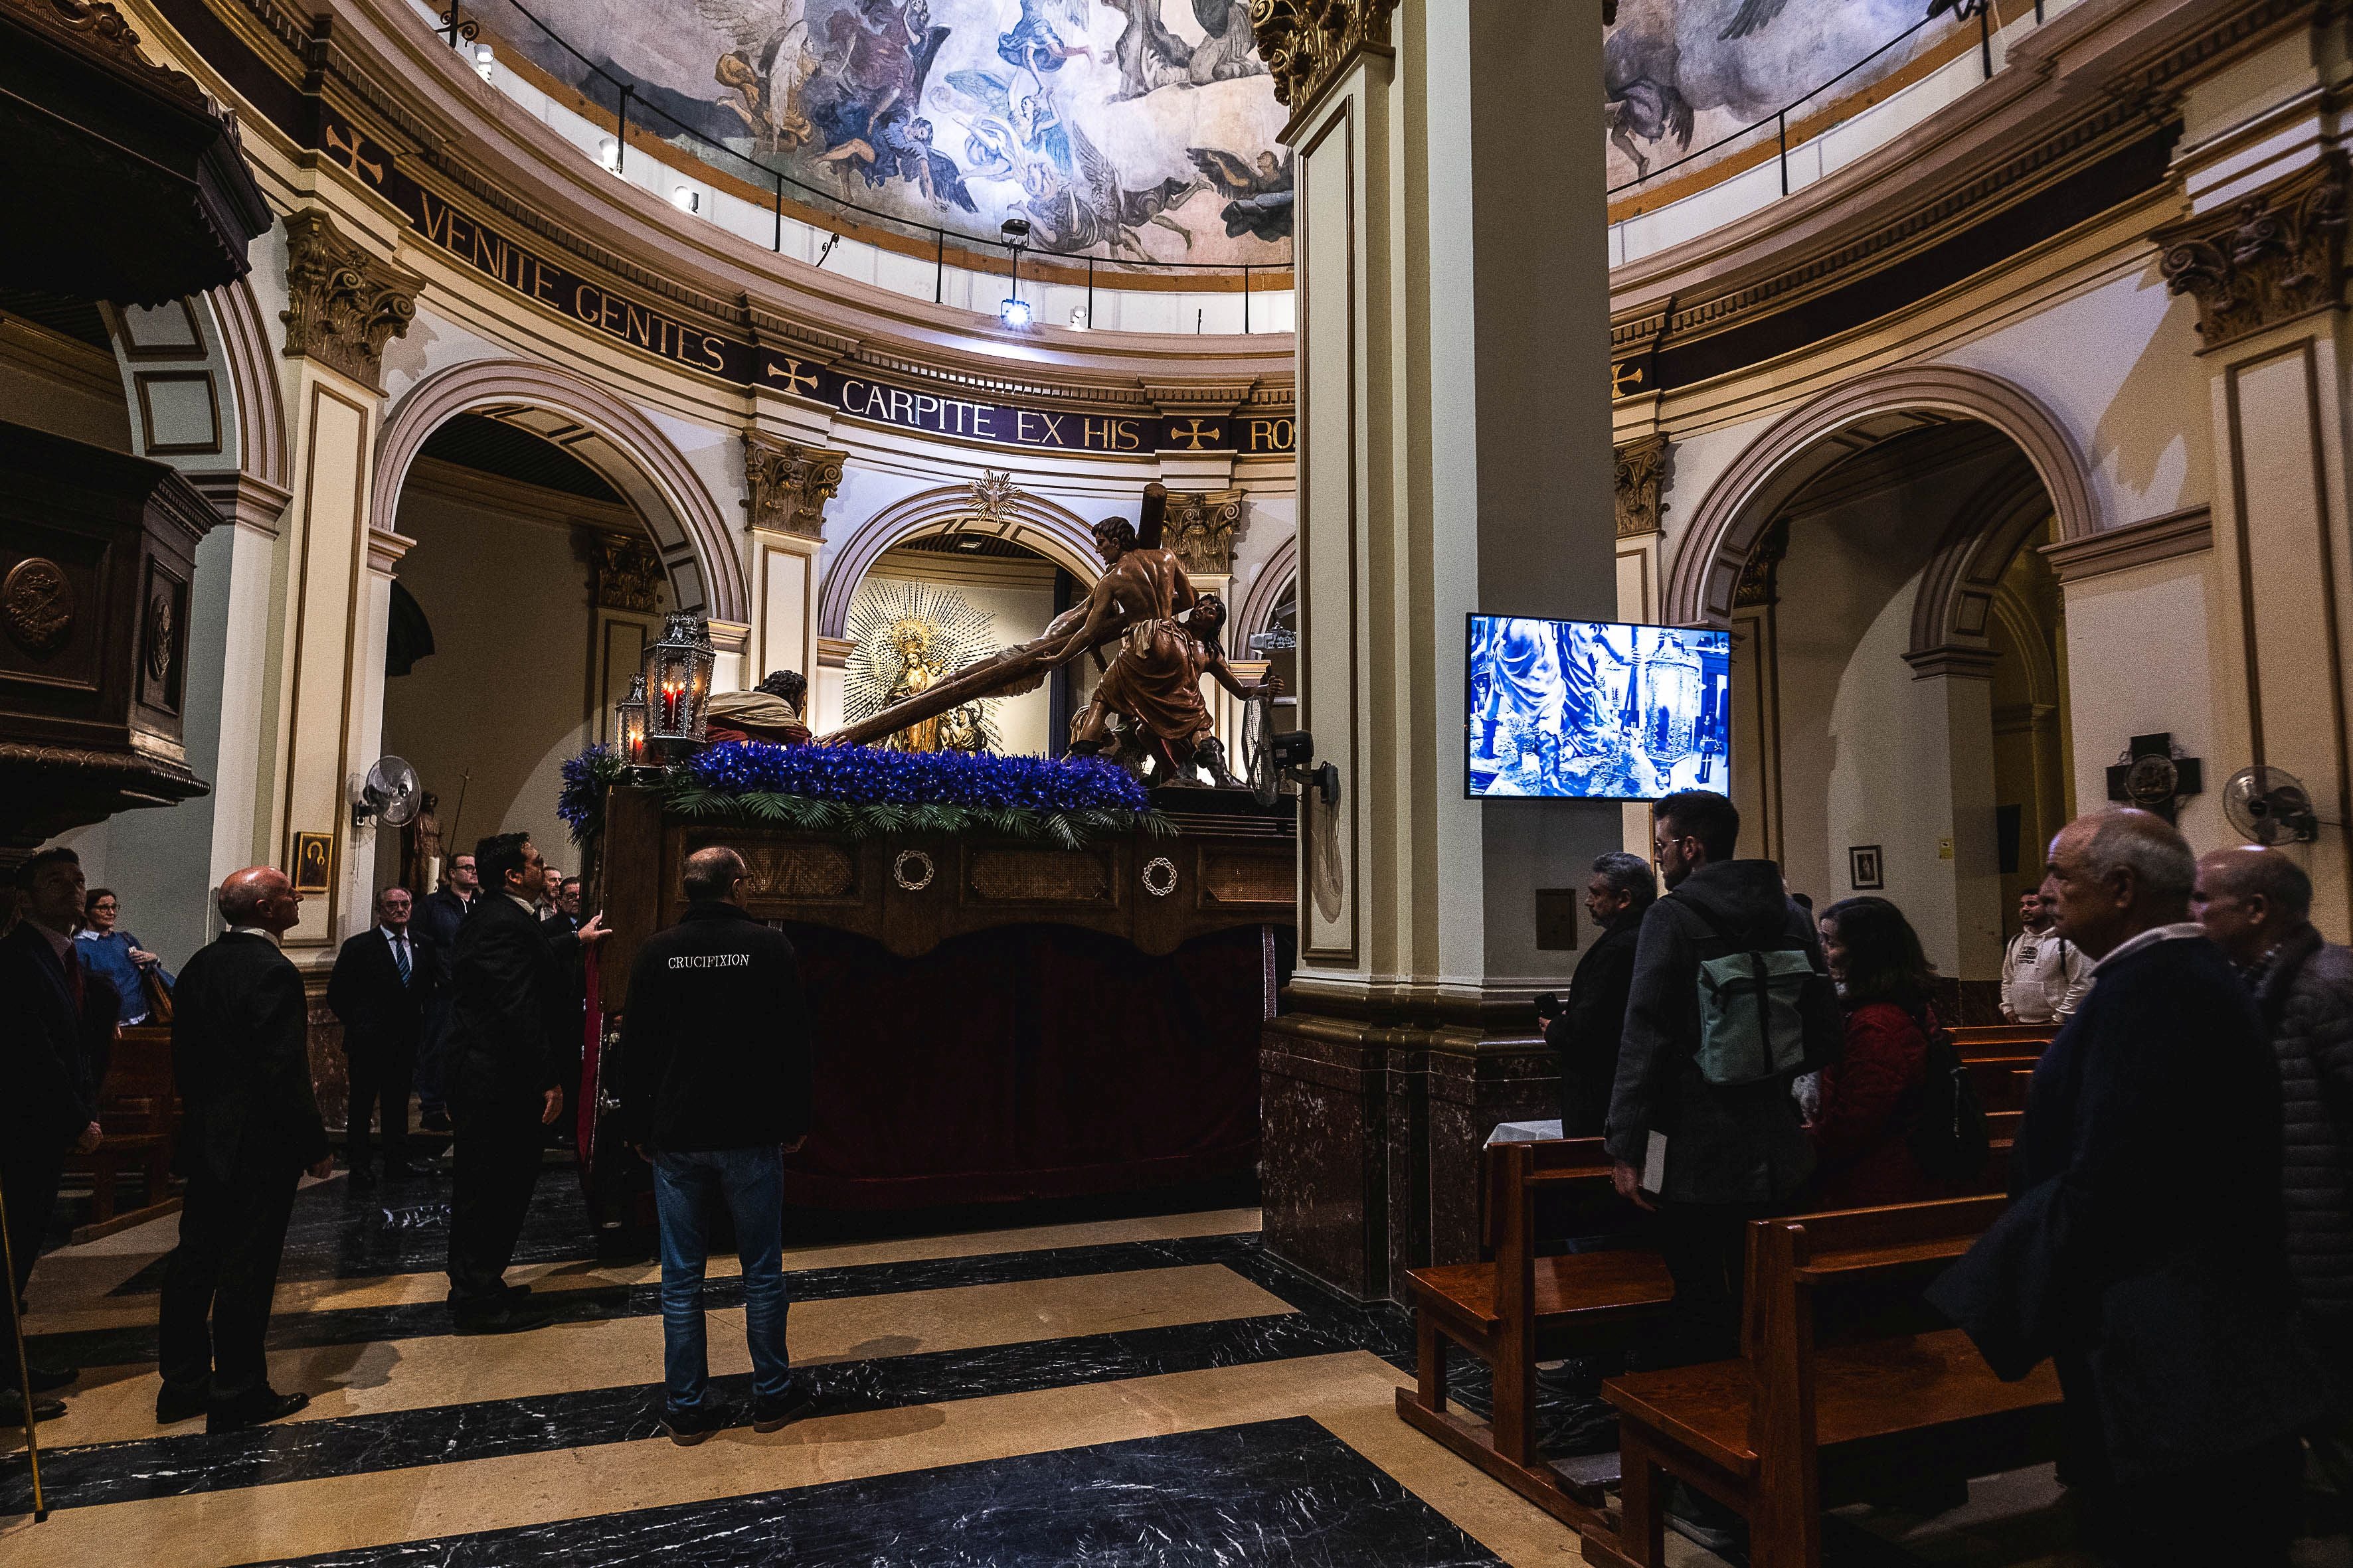
[[[1675,1305],[1652,1366],[1739,1347],[1741,1239],[1814,1171],[1791,1081],[1845,1030],[1814,922],[1772,860],[1734,860],[1741,813],[1713,790],[1652,806],[1668,896],[1642,917],[1609,1095],[1619,1192],[1657,1208]]]

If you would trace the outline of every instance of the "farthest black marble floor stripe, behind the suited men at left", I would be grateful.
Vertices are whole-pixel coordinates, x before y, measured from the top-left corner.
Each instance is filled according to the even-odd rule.
[[[546,1166],[515,1241],[515,1262],[595,1258],[595,1227],[569,1164]],[[348,1178],[306,1187],[294,1199],[280,1279],[372,1279],[426,1274],[449,1262],[449,1178],[421,1175],[353,1192]],[[162,1291],[165,1260],[146,1265],[113,1295]]]

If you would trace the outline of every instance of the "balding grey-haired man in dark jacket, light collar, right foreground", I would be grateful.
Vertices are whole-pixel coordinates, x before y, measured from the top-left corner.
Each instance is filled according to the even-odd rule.
[[[2094,961],[2035,1065],[2019,1197],[1929,1300],[2002,1378],[2066,1389],[2064,1474],[2122,1563],[2287,1561],[2320,1378],[2294,1333],[2280,1072],[2146,811],[2059,830],[2042,879]]]

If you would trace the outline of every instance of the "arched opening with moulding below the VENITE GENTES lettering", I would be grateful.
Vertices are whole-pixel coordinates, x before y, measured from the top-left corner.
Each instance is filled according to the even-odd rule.
[[[381,750],[438,797],[445,851],[522,830],[576,870],[555,813],[565,759],[609,738],[666,611],[744,621],[718,505],[642,414],[520,362],[419,383],[384,428],[374,503],[412,541],[386,616]],[[431,882],[407,839],[376,835],[376,889]]]

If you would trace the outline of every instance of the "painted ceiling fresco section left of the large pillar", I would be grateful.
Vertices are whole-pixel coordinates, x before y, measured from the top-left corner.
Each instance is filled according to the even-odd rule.
[[[1292,254],[1292,167],[1275,143],[1285,113],[1247,0],[529,9],[696,134],[873,212],[991,242],[1005,219],[1028,219],[1031,244],[1066,256]],[[501,31],[581,80],[579,61],[527,21]]]

